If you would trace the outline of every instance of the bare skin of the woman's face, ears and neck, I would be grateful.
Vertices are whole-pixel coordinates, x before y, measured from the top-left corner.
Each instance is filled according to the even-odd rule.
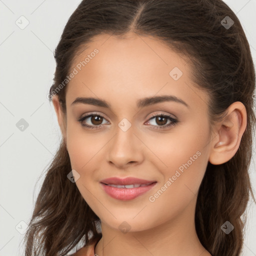
[[[244,105],[231,104],[226,118],[216,123],[210,133],[209,96],[192,85],[190,66],[178,54],[153,38],[104,34],[96,36],[73,60],[72,69],[95,48],[99,50],[96,56],[67,85],[66,119],[57,96],[52,99],[72,169],[80,175],[76,185],[101,220],[102,238],[95,253],[210,256],[195,231],[197,193],[208,161],[221,164],[237,151],[246,127]],[[169,74],[174,67],[182,71],[177,80]],[[187,106],[164,101],[137,108],[137,100],[160,95],[174,95]],[[77,97],[105,100],[111,109],[83,103],[71,105]],[[102,116],[101,123],[93,117],[82,123],[101,127],[88,129],[77,121],[91,112]],[[165,122],[157,122],[156,117],[150,119],[152,114],[161,113],[178,122],[161,128],[172,122],[168,118]],[[126,131],[118,126],[123,118],[131,124]],[[185,163],[189,166],[167,185]],[[122,201],[110,197],[99,184],[112,176],[157,183],[146,193]],[[154,196],[164,184],[165,190]],[[128,223],[128,232],[120,228],[123,221]]]

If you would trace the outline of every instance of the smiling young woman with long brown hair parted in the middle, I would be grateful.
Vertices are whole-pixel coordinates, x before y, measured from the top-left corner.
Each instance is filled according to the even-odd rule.
[[[63,139],[25,255],[240,255],[255,72],[232,10],[83,0],[54,57]]]

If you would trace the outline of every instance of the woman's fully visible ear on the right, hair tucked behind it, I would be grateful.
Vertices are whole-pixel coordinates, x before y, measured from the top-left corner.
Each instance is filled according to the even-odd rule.
[[[210,163],[221,164],[234,156],[240,145],[246,124],[245,106],[240,101],[232,103],[227,108],[227,114],[224,119],[215,126],[216,136],[211,143]]]

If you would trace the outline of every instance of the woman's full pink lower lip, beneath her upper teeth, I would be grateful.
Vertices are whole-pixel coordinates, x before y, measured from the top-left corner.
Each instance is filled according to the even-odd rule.
[[[104,191],[114,199],[131,200],[150,190],[156,184],[156,182],[153,182],[147,186],[139,186],[133,188],[113,187],[101,182],[100,184]]]

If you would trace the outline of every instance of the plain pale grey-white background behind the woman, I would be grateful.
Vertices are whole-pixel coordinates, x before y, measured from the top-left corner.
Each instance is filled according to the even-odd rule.
[[[0,0],[0,256],[21,255],[24,222],[31,217],[43,176],[36,181],[60,142],[46,95],[55,71],[53,50],[79,2]],[[225,2],[242,23],[255,64],[256,0]],[[21,118],[28,124],[23,131],[16,126]],[[255,154],[250,177],[255,191]],[[256,255],[256,207],[251,202],[242,254],[246,256]]]

